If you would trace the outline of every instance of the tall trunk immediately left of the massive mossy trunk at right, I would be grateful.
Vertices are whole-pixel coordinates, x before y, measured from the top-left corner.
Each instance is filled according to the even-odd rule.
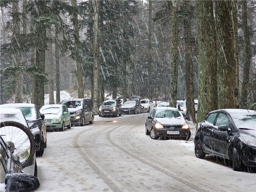
[[[193,84],[193,58],[192,58],[192,37],[191,37],[191,18],[192,8],[190,6],[190,1],[185,1],[184,3],[184,33],[185,33],[185,62],[186,62],[186,105],[187,105],[187,116],[190,121],[196,122],[195,114],[195,102],[194,102],[194,84]]]

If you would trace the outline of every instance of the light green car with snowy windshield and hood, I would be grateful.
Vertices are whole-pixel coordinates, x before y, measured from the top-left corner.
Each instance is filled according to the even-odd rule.
[[[65,105],[44,105],[39,111],[44,114],[47,130],[64,131],[65,127],[71,128],[70,114]]]

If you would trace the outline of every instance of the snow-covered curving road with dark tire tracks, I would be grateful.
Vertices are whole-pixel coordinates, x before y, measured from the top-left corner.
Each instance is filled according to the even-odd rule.
[[[193,143],[152,140],[148,114],[48,132],[38,191],[256,191],[256,174],[195,157]],[[95,119],[95,120],[96,120]]]

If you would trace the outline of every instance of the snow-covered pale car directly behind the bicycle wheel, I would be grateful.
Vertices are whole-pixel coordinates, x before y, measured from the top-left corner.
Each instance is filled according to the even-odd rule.
[[[24,172],[37,177],[35,137],[31,129],[29,129],[21,110],[17,108],[0,108],[0,121],[0,135],[3,137],[1,140],[10,145],[13,156],[19,159]],[[9,158],[12,157],[11,154],[7,154],[7,156]],[[3,156],[1,148],[1,162],[2,158],[7,161],[7,156]],[[5,172],[8,171],[5,169]]]

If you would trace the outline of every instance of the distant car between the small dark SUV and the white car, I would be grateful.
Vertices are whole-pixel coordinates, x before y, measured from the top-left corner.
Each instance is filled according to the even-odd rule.
[[[123,114],[139,114],[142,113],[142,106],[138,100],[125,101],[122,105]]]

